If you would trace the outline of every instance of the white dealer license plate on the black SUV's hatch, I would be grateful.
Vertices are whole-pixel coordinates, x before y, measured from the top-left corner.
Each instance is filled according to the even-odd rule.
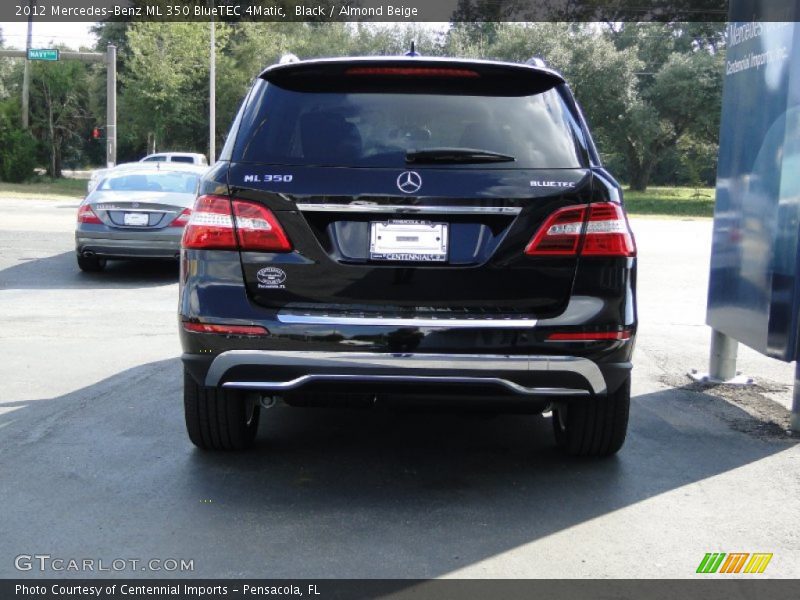
[[[382,221],[370,223],[371,260],[445,262],[447,223]]]

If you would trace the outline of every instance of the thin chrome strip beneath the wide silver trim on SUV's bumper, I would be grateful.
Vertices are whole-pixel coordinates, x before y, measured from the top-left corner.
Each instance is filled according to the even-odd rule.
[[[439,377],[430,375],[303,375],[290,381],[227,381],[222,384],[224,388],[266,390],[281,392],[294,390],[307,383],[315,381],[351,381],[375,382],[375,383],[450,383],[450,384],[470,384],[470,385],[498,385],[517,394],[526,396],[588,396],[586,390],[573,390],[569,388],[529,388],[508,379],[501,377]]]

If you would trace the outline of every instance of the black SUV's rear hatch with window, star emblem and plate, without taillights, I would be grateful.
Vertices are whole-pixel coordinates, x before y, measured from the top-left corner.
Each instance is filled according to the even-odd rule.
[[[241,115],[228,183],[274,213],[292,251],[241,251],[250,297],[311,316],[560,313],[577,253],[526,247],[554,213],[592,201],[568,94],[557,74],[522,65],[268,69]]]

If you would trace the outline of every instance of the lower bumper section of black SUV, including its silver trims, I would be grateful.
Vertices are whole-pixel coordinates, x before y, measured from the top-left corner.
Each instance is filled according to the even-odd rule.
[[[319,384],[374,391],[402,385],[530,397],[603,395],[630,363],[598,365],[577,356],[230,350],[208,359],[184,354],[195,379],[210,387],[279,395]],[[619,381],[618,381],[619,380]]]

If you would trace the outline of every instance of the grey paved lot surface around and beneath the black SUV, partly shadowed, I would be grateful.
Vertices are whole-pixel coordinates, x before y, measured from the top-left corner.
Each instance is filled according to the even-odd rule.
[[[793,366],[740,347],[757,385],[686,376],[708,364],[710,220],[632,220],[631,425],[597,461],[561,456],[545,417],[289,408],[250,453],[198,451],[177,264],[79,272],[75,212],[0,198],[0,576],[683,578],[767,552],[763,577],[800,577]],[[17,570],[36,554],[193,570]]]

